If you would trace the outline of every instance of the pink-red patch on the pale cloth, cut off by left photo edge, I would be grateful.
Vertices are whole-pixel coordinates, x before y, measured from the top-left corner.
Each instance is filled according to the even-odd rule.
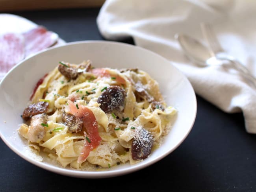
[[[0,36],[0,79],[24,57],[23,35],[7,33]]]

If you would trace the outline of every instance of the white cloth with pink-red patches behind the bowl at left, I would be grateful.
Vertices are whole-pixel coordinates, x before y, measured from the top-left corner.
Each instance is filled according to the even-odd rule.
[[[17,63],[64,41],[43,26],[11,14],[0,14],[0,80]]]

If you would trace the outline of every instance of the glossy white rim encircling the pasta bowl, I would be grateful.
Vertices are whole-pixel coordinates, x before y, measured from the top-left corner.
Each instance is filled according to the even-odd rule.
[[[70,45],[75,45],[75,44],[87,44],[87,43],[104,43],[104,44],[117,44],[117,45],[121,45],[121,46],[130,46],[132,48],[137,48],[141,51],[148,52],[149,54],[153,54],[156,57],[161,57],[161,59],[164,59],[166,62],[170,63],[170,65],[172,65],[174,68],[176,68],[176,70],[178,70],[181,73],[181,75],[183,76],[185,81],[187,81],[187,83],[189,83],[189,85],[191,86],[191,88],[193,90],[193,94],[191,96],[193,97],[193,102],[194,102],[193,105],[195,106],[195,109],[194,109],[195,111],[193,113],[193,120],[191,121],[191,125],[190,125],[187,133],[184,135],[184,137],[175,145],[174,148],[168,150],[167,152],[159,155],[155,159],[150,160],[146,163],[134,164],[134,165],[132,165],[128,168],[122,168],[121,170],[106,170],[106,171],[104,170],[104,171],[99,171],[99,172],[61,168],[61,167],[54,166],[54,165],[51,165],[51,164],[44,164],[43,162],[39,162],[39,161],[37,161],[35,159],[32,159],[32,158],[28,158],[28,155],[25,155],[21,151],[17,150],[14,146],[12,146],[11,142],[9,142],[6,139],[6,137],[4,137],[4,135],[2,135],[2,133],[0,131],[0,137],[2,138],[4,143],[12,151],[14,151],[17,155],[19,155],[20,157],[22,157],[26,161],[28,161],[28,162],[30,162],[30,163],[32,163],[32,164],[34,164],[34,165],[36,165],[40,168],[43,168],[43,169],[48,170],[50,172],[54,172],[54,173],[61,174],[61,175],[66,175],[66,176],[70,176],[70,177],[88,178],[88,179],[116,177],[116,176],[119,176],[119,175],[129,174],[129,173],[141,170],[143,168],[146,168],[146,167],[160,161],[161,159],[163,159],[164,157],[166,157],[167,155],[172,153],[174,150],[176,150],[176,148],[178,148],[178,146],[180,146],[180,144],[182,144],[182,142],[184,142],[184,140],[187,138],[187,136],[191,132],[191,129],[193,128],[193,125],[195,124],[195,119],[196,119],[196,116],[197,116],[197,98],[196,98],[195,90],[193,89],[193,87],[192,87],[190,81],[187,79],[187,77],[176,66],[174,66],[171,63],[171,61],[169,61],[165,57],[161,56],[160,54],[157,54],[156,52],[153,52],[153,51],[148,50],[146,48],[142,48],[142,47],[139,47],[139,46],[136,46],[136,45],[133,45],[133,44],[124,43],[124,42],[104,41],[104,40],[73,41],[73,42],[68,42],[68,43],[61,44],[61,45],[56,45],[56,46],[47,48],[45,50],[41,50],[41,51],[37,52],[36,54],[30,55],[30,56],[26,57],[25,59],[23,59],[22,61],[20,61],[19,63],[17,63],[17,65],[13,66],[13,68],[11,68],[11,70],[9,70],[9,72],[7,72],[7,74],[4,76],[4,78],[0,81],[0,88],[2,87],[3,82],[5,82],[5,79],[7,78],[7,76],[9,76],[9,74],[13,70],[16,67],[18,67],[19,65],[22,65],[22,63],[26,62],[30,58],[36,57],[36,56],[38,56],[38,55],[40,55],[44,52],[50,52],[51,50],[58,49],[60,47],[70,46]]]

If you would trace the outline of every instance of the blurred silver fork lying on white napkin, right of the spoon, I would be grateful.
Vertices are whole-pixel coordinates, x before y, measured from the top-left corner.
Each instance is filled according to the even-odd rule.
[[[241,74],[245,78],[249,79],[254,84],[254,87],[256,88],[256,78],[249,72],[249,70],[243,64],[237,61],[236,58],[226,54],[226,52],[223,50],[223,48],[219,44],[219,41],[211,25],[208,23],[201,23],[200,26],[201,26],[204,39],[206,39],[209,45],[209,51],[211,56],[220,60],[230,61],[233,64],[234,68],[239,72],[241,72]]]

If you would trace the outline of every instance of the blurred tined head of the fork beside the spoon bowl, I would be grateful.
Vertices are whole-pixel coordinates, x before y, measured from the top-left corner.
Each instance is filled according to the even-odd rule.
[[[203,36],[209,44],[211,54],[213,54],[213,56],[214,56],[218,52],[223,52],[224,50],[221,47],[221,45],[219,44],[219,41],[218,41],[216,34],[214,33],[211,25],[207,24],[207,23],[201,23],[200,26],[201,26]]]

